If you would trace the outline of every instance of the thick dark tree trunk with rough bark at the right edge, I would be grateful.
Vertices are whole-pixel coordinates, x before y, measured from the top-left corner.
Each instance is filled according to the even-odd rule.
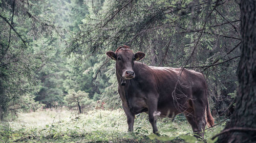
[[[242,0],[240,8],[242,45],[236,109],[218,142],[256,141],[256,0]]]

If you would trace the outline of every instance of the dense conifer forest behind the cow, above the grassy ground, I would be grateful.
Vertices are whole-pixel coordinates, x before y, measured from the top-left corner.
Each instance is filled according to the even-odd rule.
[[[241,54],[240,1],[0,0],[0,117],[121,108],[115,63],[127,45],[150,66],[202,72],[210,110],[229,117]]]

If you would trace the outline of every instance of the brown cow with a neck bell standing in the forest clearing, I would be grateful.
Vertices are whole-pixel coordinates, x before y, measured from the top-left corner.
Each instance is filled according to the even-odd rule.
[[[173,118],[184,113],[193,132],[201,137],[204,136],[202,130],[205,129],[206,119],[210,126],[214,125],[202,73],[136,62],[145,54],[134,54],[128,46],[121,46],[115,52],[108,51],[106,55],[116,61],[118,92],[127,117],[128,131],[133,131],[135,115],[141,112],[148,113],[153,133],[156,134],[159,134],[156,126],[156,115],[159,114]]]

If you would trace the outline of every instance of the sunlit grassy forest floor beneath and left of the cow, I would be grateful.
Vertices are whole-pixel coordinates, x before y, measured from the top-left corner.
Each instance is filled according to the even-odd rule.
[[[127,132],[122,109],[92,110],[81,115],[66,109],[19,113],[11,122],[0,123],[0,142],[196,142],[184,118],[158,118],[161,136],[152,134],[147,114],[136,116],[134,132]],[[217,121],[218,122],[218,121]],[[224,123],[225,124],[225,123]],[[205,141],[219,133],[224,124],[205,131]],[[200,141],[203,142],[203,141]]]

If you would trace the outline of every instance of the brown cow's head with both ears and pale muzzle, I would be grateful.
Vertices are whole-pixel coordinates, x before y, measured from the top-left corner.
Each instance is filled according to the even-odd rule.
[[[145,53],[137,52],[134,54],[128,46],[120,46],[117,48],[116,52],[108,51],[106,55],[116,61],[117,74],[126,80],[135,77],[133,70],[134,62],[143,59]]]

